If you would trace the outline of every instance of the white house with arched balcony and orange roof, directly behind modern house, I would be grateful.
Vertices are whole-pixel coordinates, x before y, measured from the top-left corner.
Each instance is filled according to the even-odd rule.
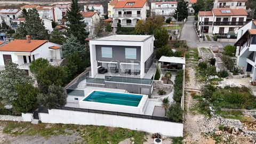
[[[147,0],[118,1],[114,6],[112,25],[114,31],[117,23],[120,23],[122,27],[135,27],[138,20],[147,18],[147,10],[149,10]]]

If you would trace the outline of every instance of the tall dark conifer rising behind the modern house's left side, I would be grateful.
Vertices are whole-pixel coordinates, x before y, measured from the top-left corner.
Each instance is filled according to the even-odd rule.
[[[67,11],[68,36],[76,36],[80,43],[85,44],[85,38],[89,35],[85,30],[86,24],[83,20],[82,14],[79,12],[77,0],[72,0],[70,9]]]

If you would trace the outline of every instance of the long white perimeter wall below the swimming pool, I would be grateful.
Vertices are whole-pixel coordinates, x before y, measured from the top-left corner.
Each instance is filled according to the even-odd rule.
[[[159,132],[171,137],[183,137],[183,124],[157,121],[153,119],[60,109],[51,109],[49,110],[49,114],[39,113],[39,118],[43,123],[102,125],[122,127],[125,129],[145,131],[149,133]]]

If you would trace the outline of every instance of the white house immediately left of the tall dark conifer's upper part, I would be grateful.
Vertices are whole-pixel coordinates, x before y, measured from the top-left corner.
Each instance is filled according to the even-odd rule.
[[[60,22],[62,19],[62,11],[57,6],[40,6],[36,9],[41,19]]]

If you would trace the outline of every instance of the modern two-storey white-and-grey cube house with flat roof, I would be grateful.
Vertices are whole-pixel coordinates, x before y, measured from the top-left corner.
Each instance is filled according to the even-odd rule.
[[[154,40],[152,35],[112,35],[91,40],[91,76],[112,73],[144,78],[153,63]]]

